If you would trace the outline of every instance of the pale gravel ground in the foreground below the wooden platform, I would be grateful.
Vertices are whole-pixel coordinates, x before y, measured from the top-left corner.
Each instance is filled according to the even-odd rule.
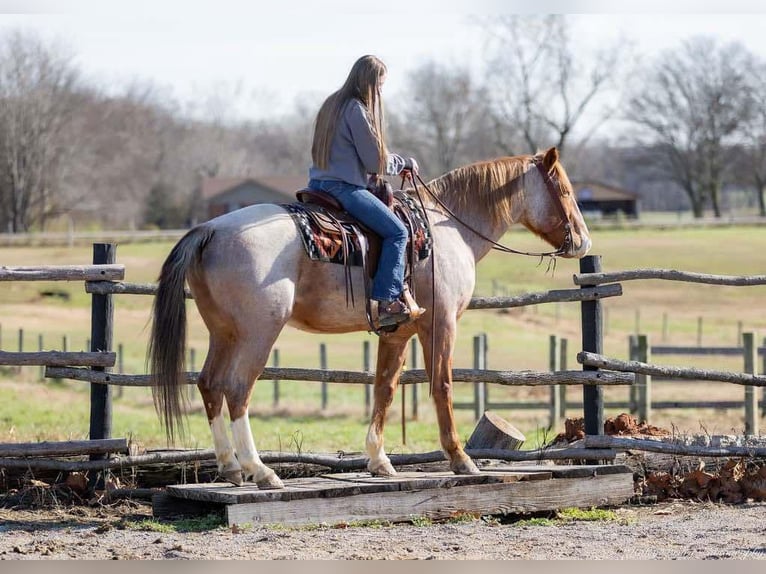
[[[148,505],[0,509],[0,559],[766,559],[766,503],[674,501],[615,520],[139,530]]]

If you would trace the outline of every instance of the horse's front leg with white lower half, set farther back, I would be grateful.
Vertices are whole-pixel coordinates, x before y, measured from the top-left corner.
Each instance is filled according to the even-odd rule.
[[[394,400],[394,392],[399,384],[399,372],[404,364],[407,352],[405,337],[381,337],[378,342],[378,362],[375,372],[375,400],[372,407],[372,420],[367,431],[365,446],[370,460],[367,469],[373,475],[394,476],[396,470],[383,448],[383,427],[386,413]]]

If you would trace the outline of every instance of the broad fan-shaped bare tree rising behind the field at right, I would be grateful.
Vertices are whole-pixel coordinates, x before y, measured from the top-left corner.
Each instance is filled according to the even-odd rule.
[[[741,44],[692,38],[657,59],[630,101],[628,119],[643,128],[658,166],[684,189],[695,217],[708,203],[721,216],[727,154],[754,109],[751,69]]]

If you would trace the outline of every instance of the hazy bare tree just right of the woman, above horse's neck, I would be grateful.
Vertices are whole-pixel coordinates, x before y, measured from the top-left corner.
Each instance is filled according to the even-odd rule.
[[[475,139],[487,109],[484,92],[470,72],[430,61],[409,74],[407,86],[392,114],[390,139],[432,175],[476,159],[466,144]]]

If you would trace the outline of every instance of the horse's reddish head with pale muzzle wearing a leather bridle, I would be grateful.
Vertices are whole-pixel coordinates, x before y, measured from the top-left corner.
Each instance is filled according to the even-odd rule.
[[[559,248],[561,257],[587,255],[591,247],[588,227],[555,147],[532,156],[525,188],[527,201],[522,223]]]

